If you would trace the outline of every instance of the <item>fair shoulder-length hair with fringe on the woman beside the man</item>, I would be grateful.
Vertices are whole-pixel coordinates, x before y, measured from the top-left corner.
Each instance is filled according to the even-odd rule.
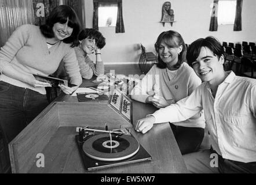
[[[173,30],[162,32],[158,36],[158,39],[156,40],[156,43],[155,43],[155,50],[157,53],[159,51],[159,45],[162,41],[170,47],[182,46],[182,51],[178,56],[178,62],[174,66],[177,69],[180,68],[181,64],[186,61],[186,46],[182,36],[178,32]],[[159,55],[158,55],[158,64],[156,65],[158,66],[158,68],[161,68],[161,69],[164,69],[167,67],[166,63],[162,61]]]

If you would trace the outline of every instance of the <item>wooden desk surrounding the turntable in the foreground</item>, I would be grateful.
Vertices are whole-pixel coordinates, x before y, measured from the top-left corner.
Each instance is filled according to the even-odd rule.
[[[83,80],[82,87],[91,86]],[[95,84],[94,84],[95,86]],[[133,120],[153,113],[148,104],[133,101]],[[86,171],[75,142],[76,126],[100,127],[108,122],[109,129],[131,128],[131,133],[152,156],[151,161]],[[12,142],[9,143],[13,173],[187,173],[169,123],[155,125],[146,134],[133,129],[107,102],[78,102],[76,97],[61,94]],[[45,167],[36,166],[37,154],[45,157]]]

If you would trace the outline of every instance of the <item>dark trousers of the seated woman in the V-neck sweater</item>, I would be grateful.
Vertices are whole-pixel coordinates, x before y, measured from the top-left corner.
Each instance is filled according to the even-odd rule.
[[[170,126],[182,155],[199,150],[204,137],[203,128],[181,127],[171,123]]]

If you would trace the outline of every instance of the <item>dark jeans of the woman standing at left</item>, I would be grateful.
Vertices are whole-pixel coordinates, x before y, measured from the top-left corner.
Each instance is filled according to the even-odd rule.
[[[14,139],[47,105],[46,95],[0,81],[0,129],[5,142]]]

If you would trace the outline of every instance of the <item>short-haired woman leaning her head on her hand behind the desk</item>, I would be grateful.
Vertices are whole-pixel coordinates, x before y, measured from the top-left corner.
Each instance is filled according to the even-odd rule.
[[[78,35],[79,45],[75,47],[75,54],[78,60],[81,76],[84,79],[92,79],[93,75],[104,75],[104,64],[101,59],[101,49],[106,45],[105,38],[101,32],[93,28],[82,29]],[[88,57],[95,52],[96,63]],[[60,63],[52,77],[68,80],[68,74],[65,71],[63,62]],[[47,98],[52,102],[60,94],[60,89],[56,87],[47,87]]]

